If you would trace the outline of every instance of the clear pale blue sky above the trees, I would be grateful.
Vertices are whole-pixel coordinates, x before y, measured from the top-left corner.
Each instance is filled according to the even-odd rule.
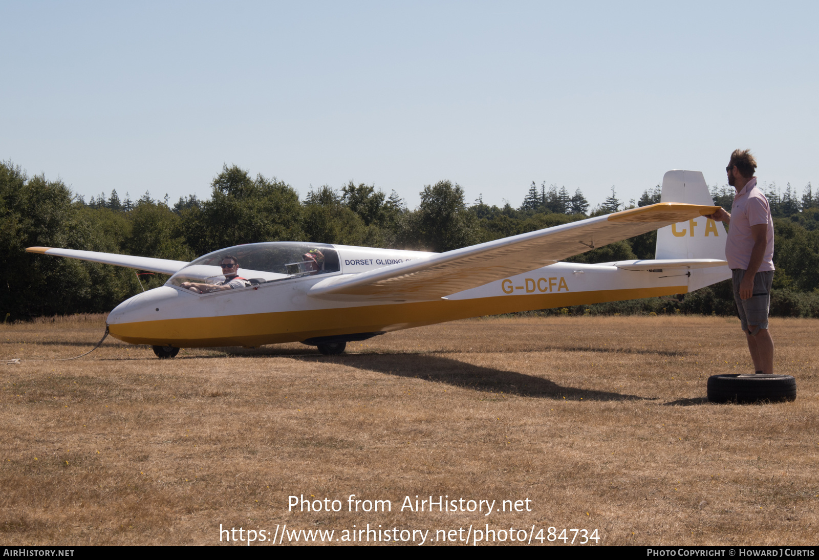
[[[819,2],[0,2],[0,160],[88,199],[532,181],[592,205],[668,169],[819,186]]]

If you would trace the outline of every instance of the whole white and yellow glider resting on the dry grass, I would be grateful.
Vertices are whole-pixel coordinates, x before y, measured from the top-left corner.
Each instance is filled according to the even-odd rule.
[[[703,175],[669,171],[658,204],[523,233],[446,253],[303,242],[233,246],[190,263],[93,251],[27,251],[171,274],[109,314],[111,336],[154,346],[259,346],[302,341],[325,354],[383,332],[459,318],[685,293],[730,278],[725,228]],[[654,260],[572,264],[562,259],[658,232]],[[303,255],[318,249],[319,270]],[[196,293],[183,282],[223,280],[238,258],[249,287]]]

